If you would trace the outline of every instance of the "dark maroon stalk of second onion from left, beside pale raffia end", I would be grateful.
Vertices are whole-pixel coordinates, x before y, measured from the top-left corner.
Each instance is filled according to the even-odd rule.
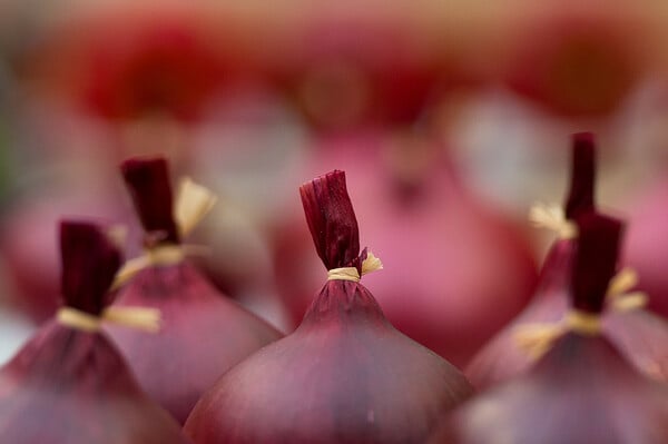
[[[124,161],[120,170],[146,230],[147,246],[178,243],[167,160],[163,157],[132,158]]]

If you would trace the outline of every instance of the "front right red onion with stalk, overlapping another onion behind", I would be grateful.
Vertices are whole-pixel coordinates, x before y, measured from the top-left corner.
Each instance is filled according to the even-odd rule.
[[[668,391],[639,374],[601,335],[622,224],[578,218],[572,308],[548,354],[525,376],[471,399],[432,443],[668,442]]]

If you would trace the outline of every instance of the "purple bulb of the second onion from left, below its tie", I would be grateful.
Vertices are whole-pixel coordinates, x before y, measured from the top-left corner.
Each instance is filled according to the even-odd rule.
[[[180,424],[224,372],[283,336],[223,296],[187,262],[139,272],[114,305],[160,309],[156,334],[106,329],[141,387]]]

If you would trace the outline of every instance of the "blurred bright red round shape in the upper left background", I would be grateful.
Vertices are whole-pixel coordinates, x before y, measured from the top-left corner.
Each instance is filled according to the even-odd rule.
[[[107,119],[191,121],[235,66],[217,40],[219,23],[207,12],[125,3],[56,14],[26,51],[23,77],[45,97],[65,98]]]

